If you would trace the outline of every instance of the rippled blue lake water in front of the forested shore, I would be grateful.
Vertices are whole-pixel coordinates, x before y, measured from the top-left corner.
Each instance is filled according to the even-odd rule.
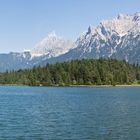
[[[140,87],[0,87],[0,139],[135,140]]]

